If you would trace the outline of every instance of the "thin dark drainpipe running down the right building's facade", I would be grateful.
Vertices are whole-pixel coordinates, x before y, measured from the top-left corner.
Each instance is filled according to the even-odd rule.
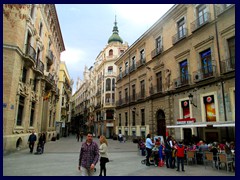
[[[215,26],[215,33],[216,33],[216,41],[217,41],[217,53],[218,53],[218,64],[220,67],[220,73],[222,72],[222,66],[221,66],[221,57],[220,57],[220,48],[219,48],[219,39],[218,39],[218,28],[217,28],[217,15],[216,15],[216,5],[213,5],[214,9],[214,26]],[[220,74],[219,73],[219,74]],[[224,118],[225,121],[227,121],[227,113],[226,113],[226,103],[225,103],[225,92],[224,92],[224,81],[221,78],[221,89],[222,89],[222,97],[223,97],[223,110],[224,110]],[[229,138],[229,132],[228,127],[226,127],[226,139]]]

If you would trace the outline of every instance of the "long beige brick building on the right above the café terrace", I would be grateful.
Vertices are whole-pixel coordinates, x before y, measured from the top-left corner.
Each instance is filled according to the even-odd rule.
[[[235,139],[235,5],[174,5],[115,64],[116,134]]]

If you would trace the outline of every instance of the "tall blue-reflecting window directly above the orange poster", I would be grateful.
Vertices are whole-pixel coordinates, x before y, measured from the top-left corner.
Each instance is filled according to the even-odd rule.
[[[201,63],[202,63],[203,77],[207,78],[207,77],[213,76],[211,50],[207,49],[201,52],[200,57],[201,57]]]

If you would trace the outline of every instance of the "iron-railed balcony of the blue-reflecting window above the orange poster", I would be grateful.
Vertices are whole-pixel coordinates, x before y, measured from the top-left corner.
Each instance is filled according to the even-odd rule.
[[[193,72],[193,81],[198,82],[216,76],[216,66],[210,65]]]

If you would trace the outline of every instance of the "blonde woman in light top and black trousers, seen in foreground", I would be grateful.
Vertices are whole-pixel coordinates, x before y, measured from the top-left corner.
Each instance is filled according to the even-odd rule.
[[[99,152],[100,152],[100,174],[99,176],[102,176],[102,172],[104,173],[104,176],[106,176],[106,163],[109,162],[108,159],[108,142],[106,140],[106,137],[101,135],[99,138],[100,141],[100,147],[99,147]]]

